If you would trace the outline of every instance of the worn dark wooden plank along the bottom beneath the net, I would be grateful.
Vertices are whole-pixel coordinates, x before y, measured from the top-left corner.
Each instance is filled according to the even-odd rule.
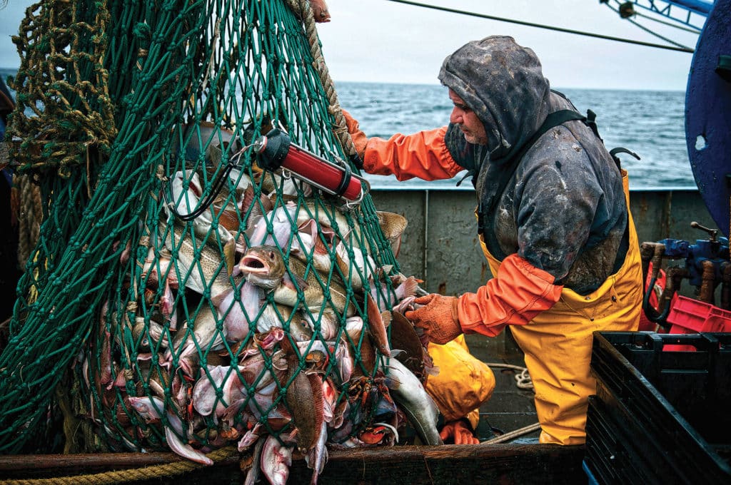
[[[330,451],[319,484],[586,484],[583,446],[395,446]],[[174,454],[26,455],[0,457],[0,478],[41,478],[99,473],[179,461]],[[165,479],[135,484],[241,484],[249,457],[234,457]],[[242,467],[244,471],[242,471]],[[312,470],[295,454],[288,484],[308,484]]]

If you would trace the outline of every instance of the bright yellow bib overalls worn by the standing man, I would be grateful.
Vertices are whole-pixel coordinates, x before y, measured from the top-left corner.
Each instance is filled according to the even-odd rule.
[[[526,358],[536,392],[535,405],[541,424],[541,443],[575,445],[586,441],[588,396],[596,393],[589,373],[592,332],[635,331],[642,309],[642,267],[639,243],[629,213],[629,182],[622,170],[629,216],[629,251],[622,267],[596,291],[580,295],[564,288],[561,299],[529,324],[510,330]],[[481,242],[482,242],[482,238]],[[500,261],[482,251],[493,275]]]

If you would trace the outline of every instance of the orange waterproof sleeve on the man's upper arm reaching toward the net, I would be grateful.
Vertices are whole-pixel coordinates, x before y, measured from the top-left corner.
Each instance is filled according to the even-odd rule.
[[[409,135],[395,134],[388,140],[372,137],[366,145],[363,169],[374,175],[395,175],[398,180],[452,178],[463,168],[452,159],[444,143],[445,134],[447,126]]]

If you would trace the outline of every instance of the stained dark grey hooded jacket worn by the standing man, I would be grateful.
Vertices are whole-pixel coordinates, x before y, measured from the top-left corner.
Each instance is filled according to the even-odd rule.
[[[512,37],[461,47],[444,60],[439,80],[488,135],[488,145],[472,145],[450,124],[445,137],[452,158],[473,175],[488,250],[499,259],[518,253],[579,294],[597,289],[627,247],[621,174],[603,142],[582,121],[567,121],[514,159],[548,113],[575,107],[550,90],[534,52]],[[498,194],[501,175],[513,169]]]

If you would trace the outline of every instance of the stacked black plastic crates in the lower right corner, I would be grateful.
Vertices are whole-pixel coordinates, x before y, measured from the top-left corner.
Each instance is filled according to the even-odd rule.
[[[585,462],[599,483],[731,484],[731,334],[594,332],[591,371]]]

